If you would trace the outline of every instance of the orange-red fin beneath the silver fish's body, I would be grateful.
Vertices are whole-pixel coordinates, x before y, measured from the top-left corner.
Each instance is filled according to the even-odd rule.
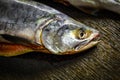
[[[17,56],[33,51],[31,48],[19,44],[0,43],[0,56]]]

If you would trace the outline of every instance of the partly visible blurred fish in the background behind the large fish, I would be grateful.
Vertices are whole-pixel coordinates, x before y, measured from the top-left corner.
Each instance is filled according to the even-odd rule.
[[[94,12],[100,9],[107,9],[120,14],[120,0],[54,0],[56,2],[63,3],[65,5],[73,5],[78,9],[94,14]],[[92,11],[87,8],[93,8]]]

